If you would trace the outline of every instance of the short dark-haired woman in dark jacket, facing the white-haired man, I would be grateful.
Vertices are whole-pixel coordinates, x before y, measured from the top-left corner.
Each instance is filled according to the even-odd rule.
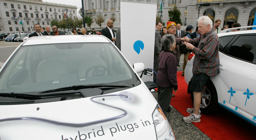
[[[166,34],[162,37],[162,46],[164,50],[159,54],[157,86],[158,86],[158,104],[164,113],[167,113],[168,106],[172,99],[172,89],[176,93],[178,90],[177,82],[177,60],[172,52],[176,47],[175,36]]]

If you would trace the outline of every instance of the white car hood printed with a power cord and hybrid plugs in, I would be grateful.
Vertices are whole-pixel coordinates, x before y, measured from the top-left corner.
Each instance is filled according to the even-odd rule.
[[[50,121],[65,123],[86,123],[108,119],[123,114],[110,106],[97,104],[91,97],[40,104],[0,106],[1,140],[155,140],[156,134],[152,112],[157,102],[142,85],[125,90],[134,96],[134,101],[125,101],[120,96],[97,96],[94,101],[119,107],[127,115],[112,121],[96,123],[85,127],[71,127],[52,124]],[[121,91],[105,94],[120,95]],[[95,97],[95,96],[94,96]],[[22,117],[20,120],[8,120]],[[26,117],[50,120],[48,122]]]

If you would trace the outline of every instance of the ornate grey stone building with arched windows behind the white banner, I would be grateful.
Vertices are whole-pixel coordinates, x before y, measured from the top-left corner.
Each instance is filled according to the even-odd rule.
[[[175,5],[180,10],[180,18],[183,23],[182,29],[186,25],[196,26],[198,16],[209,16],[212,21],[220,19],[220,27],[238,22],[241,26],[253,24],[256,13],[256,0],[131,0],[146,3],[157,3],[157,16],[161,15],[160,3],[164,1],[162,10],[162,21],[169,21],[168,11]],[[204,6],[204,3],[210,3]],[[201,5],[201,6],[200,6]],[[132,9],[131,9],[132,10]],[[90,13],[95,17],[97,14],[104,16],[102,27],[107,25],[107,20],[115,17],[114,29],[120,27],[120,0],[84,0],[84,12]],[[143,18],[143,17],[142,17]],[[143,25],[141,25],[143,26]],[[100,30],[94,22],[91,28]]]

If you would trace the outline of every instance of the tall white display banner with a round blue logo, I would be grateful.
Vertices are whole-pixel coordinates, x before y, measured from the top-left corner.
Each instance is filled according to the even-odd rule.
[[[121,52],[131,65],[153,69],[156,13],[157,3],[120,1]],[[142,79],[152,81],[153,75]]]

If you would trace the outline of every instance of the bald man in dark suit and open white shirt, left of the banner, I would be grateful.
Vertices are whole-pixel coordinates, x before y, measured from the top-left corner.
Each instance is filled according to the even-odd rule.
[[[112,29],[113,24],[114,24],[114,22],[111,19],[109,19],[107,21],[107,27],[102,29],[101,34],[103,36],[106,36],[108,39],[110,39],[112,42],[115,43],[115,41],[116,41],[115,40],[115,31]]]

